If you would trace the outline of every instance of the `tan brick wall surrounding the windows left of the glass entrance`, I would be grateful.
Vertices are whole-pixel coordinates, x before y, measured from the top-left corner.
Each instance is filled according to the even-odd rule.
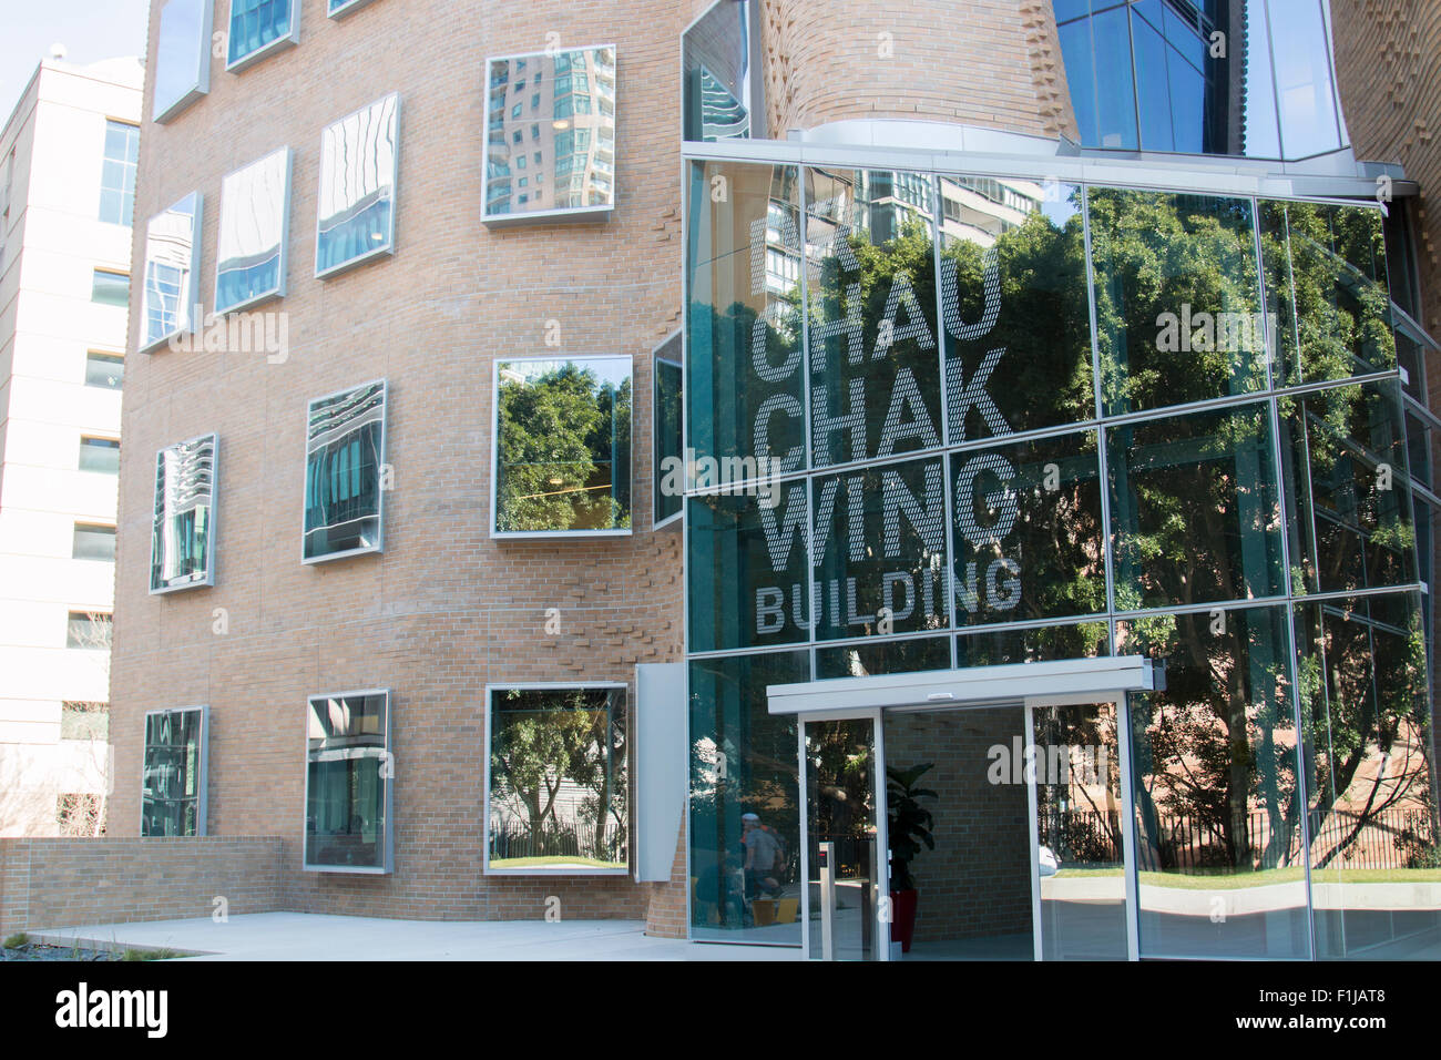
[[[216,0],[216,30],[228,10]],[[686,12],[610,0],[375,0],[340,20],[318,1],[301,12],[297,48],[241,74],[212,59],[210,94],[143,128],[135,260],[144,219],[200,190],[208,307],[220,179],[293,149],[288,293],[264,307],[288,314],[291,348],[282,363],[242,352],[131,356],[111,676],[122,798],[111,832],[138,831],[143,714],[209,704],[209,831],[284,838],[277,907],[539,917],[556,896],[566,919],[644,917],[656,887],[627,878],[483,875],[484,688],[597,679],[634,691],[635,663],[682,658],[680,535],[650,528],[650,355],[680,326]],[[484,59],[556,42],[617,45],[615,213],[490,231],[480,219]],[[396,254],[316,280],[321,128],[392,91],[402,108]],[[147,115],[151,94],[147,85]],[[133,290],[138,299],[140,283]],[[546,343],[556,326],[558,348]],[[633,536],[488,536],[493,361],[556,353],[634,358]],[[385,554],[305,567],[305,405],[382,376],[395,469]],[[220,436],[216,586],[151,597],[156,450],[209,431]],[[228,632],[215,632],[218,617]],[[305,698],[359,688],[392,691],[395,873],[303,873]]]

